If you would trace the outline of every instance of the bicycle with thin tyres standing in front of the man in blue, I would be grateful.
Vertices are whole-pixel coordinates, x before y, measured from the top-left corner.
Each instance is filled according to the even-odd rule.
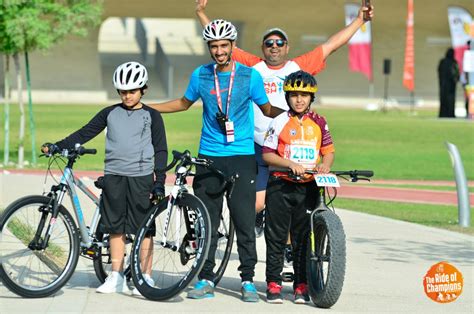
[[[203,202],[187,188],[186,178],[193,176],[193,167],[208,168],[222,179],[217,191],[232,190],[238,174],[229,177],[212,166],[212,161],[192,157],[189,151],[173,151],[173,161],[161,171],[175,167],[176,179],[171,193],[152,207],[140,225],[132,246],[131,267],[135,287],[140,293],[155,301],[173,298],[185,289],[199,273],[207,258],[211,240],[210,218]],[[224,274],[230,258],[234,226],[224,210],[218,230],[216,252],[217,283]],[[152,245],[147,238],[152,239]],[[148,280],[144,275],[148,275]],[[150,280],[151,278],[151,280]]]

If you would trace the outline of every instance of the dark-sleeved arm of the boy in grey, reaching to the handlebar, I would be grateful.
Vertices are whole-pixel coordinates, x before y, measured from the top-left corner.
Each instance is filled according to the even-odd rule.
[[[55,143],[59,149],[74,148],[76,144],[84,144],[96,137],[107,126],[107,116],[116,106],[109,106],[97,113],[86,125]]]

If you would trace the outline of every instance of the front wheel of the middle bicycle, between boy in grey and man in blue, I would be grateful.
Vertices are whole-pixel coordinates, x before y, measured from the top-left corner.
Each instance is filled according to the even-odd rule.
[[[204,265],[211,240],[209,214],[200,199],[182,193],[171,211],[167,203],[168,198],[151,209],[132,246],[135,287],[155,301],[173,298],[187,287]]]

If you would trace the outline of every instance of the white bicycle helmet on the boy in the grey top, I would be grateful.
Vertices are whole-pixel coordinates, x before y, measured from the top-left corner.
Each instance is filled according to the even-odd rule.
[[[112,80],[116,89],[138,89],[145,86],[148,81],[148,72],[146,68],[138,62],[126,62],[115,69]]]

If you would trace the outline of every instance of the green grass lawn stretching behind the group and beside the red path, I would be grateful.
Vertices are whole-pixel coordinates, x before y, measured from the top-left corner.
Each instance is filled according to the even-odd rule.
[[[0,108],[3,112],[3,106]],[[103,107],[91,105],[34,106],[36,153],[39,154],[41,143],[62,139],[84,125],[101,108]],[[437,112],[434,110],[419,110],[417,115],[411,115],[407,111],[382,113],[321,106],[316,109],[326,116],[334,138],[336,145],[334,170],[371,169],[374,170],[377,179],[454,180],[451,159],[445,146],[445,142],[449,141],[460,151],[468,180],[474,180],[473,121],[440,120],[436,118]],[[170,152],[189,149],[192,154],[197,154],[201,113],[201,107],[193,106],[186,112],[163,115]],[[1,123],[3,126],[3,114]],[[10,158],[16,162],[18,109],[14,105],[11,106],[10,130]],[[3,143],[2,133],[1,160],[3,160]],[[31,158],[30,143],[27,131],[25,141],[27,159]],[[82,158],[76,169],[102,170],[104,136],[99,135],[87,143],[86,147],[96,148],[99,153]],[[45,159],[39,159],[38,162],[35,168],[46,168]],[[14,168],[15,165],[7,167]],[[346,204],[350,206],[345,206],[344,202],[345,200],[338,199],[336,206],[459,231],[456,227],[457,209],[454,206],[451,208],[360,200],[348,202]],[[472,233],[472,229],[469,232]]]

